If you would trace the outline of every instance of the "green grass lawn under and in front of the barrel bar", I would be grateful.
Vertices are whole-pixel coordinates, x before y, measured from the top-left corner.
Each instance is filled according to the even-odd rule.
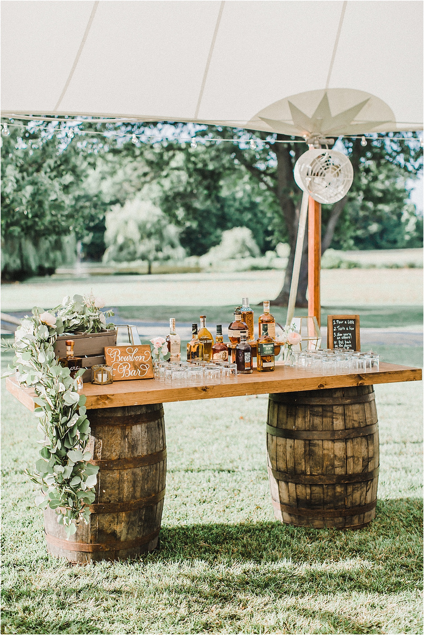
[[[421,633],[422,385],[375,389],[381,472],[369,527],[275,521],[266,396],[164,404],[161,549],[89,566],[46,554],[24,475],[36,418],[3,390],[1,632]]]

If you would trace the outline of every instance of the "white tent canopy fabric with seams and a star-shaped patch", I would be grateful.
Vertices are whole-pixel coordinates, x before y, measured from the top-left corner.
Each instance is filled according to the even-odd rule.
[[[7,0],[1,22],[4,116],[423,127],[418,1]]]

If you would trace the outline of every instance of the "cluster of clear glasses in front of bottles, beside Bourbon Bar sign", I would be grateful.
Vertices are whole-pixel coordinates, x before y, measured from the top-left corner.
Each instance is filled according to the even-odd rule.
[[[237,366],[228,362],[161,362],[158,380],[175,387],[235,384]]]

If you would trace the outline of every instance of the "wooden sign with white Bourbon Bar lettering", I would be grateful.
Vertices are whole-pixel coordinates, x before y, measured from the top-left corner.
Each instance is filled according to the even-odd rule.
[[[152,354],[148,344],[106,346],[104,356],[106,365],[113,368],[114,382],[153,378]]]

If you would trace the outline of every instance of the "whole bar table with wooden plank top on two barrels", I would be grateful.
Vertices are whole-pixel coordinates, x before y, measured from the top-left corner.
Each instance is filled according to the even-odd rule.
[[[317,375],[277,364],[271,373],[239,375],[234,384],[173,387],[154,379],[84,384],[99,465],[88,526],[69,541],[55,512],[44,512],[48,550],[70,561],[130,558],[158,544],[165,496],[162,404],[270,394],[268,474],[275,516],[291,525],[358,529],[375,516],[379,452],[373,384],[421,380],[420,368]],[[29,410],[36,398],[8,378]]]

